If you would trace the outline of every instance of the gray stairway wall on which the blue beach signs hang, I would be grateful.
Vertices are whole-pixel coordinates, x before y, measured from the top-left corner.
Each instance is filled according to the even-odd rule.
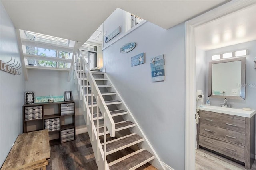
[[[120,24],[115,21],[108,18],[104,32],[112,32],[107,25],[115,28]],[[137,46],[129,53],[120,53],[120,47],[132,41]],[[106,72],[160,160],[175,170],[185,168],[184,49],[184,23],[165,30],[147,22],[103,50]],[[131,67],[131,57],[142,52],[145,63]],[[161,54],[165,59],[165,80],[151,82],[150,58]]]

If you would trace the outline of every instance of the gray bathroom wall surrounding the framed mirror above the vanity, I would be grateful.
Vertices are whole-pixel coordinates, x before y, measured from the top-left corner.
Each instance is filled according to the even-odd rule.
[[[249,107],[252,109],[256,109],[256,70],[254,70],[254,58],[256,57],[256,41],[249,41],[246,43],[231,45],[228,47],[223,47],[219,49],[214,49],[210,51],[206,51],[206,96],[208,95],[208,63],[211,60],[212,55],[231,52],[231,51],[238,51],[240,49],[248,49],[249,55],[246,57],[246,87],[245,92],[245,100],[235,100],[235,99],[228,99],[228,103],[232,103],[233,107],[242,108],[242,107]],[[219,106],[220,103],[223,103],[223,99],[218,98],[211,98],[211,104],[214,106]]]

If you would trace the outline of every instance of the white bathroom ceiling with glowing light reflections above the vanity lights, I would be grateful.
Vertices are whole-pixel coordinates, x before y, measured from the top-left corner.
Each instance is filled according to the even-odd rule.
[[[211,50],[256,40],[256,5],[196,27],[196,47]]]

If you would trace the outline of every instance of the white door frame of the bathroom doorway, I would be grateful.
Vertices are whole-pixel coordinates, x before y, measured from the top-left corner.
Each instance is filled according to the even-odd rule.
[[[196,165],[196,43],[195,28],[256,4],[256,1],[229,1],[185,23],[185,170]]]

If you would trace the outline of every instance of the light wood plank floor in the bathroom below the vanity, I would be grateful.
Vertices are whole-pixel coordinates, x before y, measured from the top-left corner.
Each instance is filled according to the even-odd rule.
[[[196,170],[244,170],[244,166],[207,150],[196,149]],[[256,161],[251,170],[256,170]]]

